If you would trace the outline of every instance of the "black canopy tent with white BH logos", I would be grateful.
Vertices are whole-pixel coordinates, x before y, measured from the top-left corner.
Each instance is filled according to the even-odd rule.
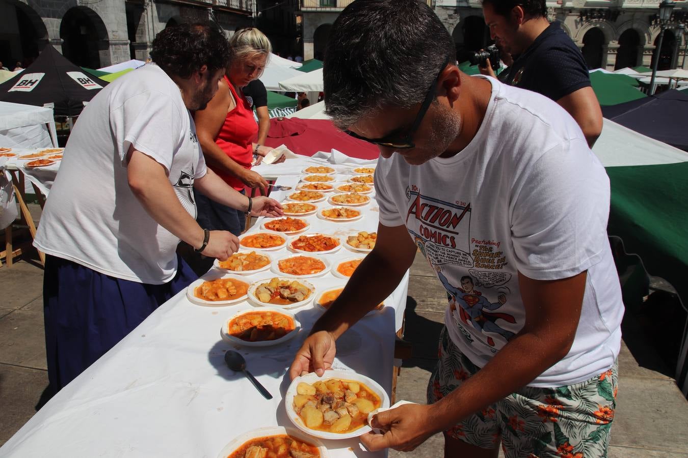
[[[0,101],[44,106],[56,116],[76,116],[107,81],[85,73],[51,45],[27,69],[0,84]]]

